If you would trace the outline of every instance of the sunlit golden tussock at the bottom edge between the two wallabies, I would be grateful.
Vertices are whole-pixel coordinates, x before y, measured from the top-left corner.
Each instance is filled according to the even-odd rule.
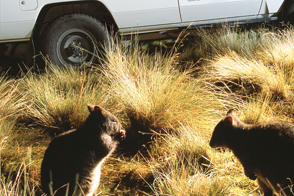
[[[189,175],[192,172],[194,175]],[[154,175],[154,195],[225,196],[230,192],[228,182],[218,176],[177,168],[174,165],[170,165],[168,171],[154,171]]]

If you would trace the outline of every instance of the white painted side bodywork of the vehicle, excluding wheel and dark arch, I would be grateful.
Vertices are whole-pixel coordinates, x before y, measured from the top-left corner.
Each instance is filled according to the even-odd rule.
[[[79,0],[70,2],[74,1]],[[47,4],[54,5],[57,2],[69,1],[0,0],[0,42],[29,40],[40,10]],[[120,33],[128,33],[277,16],[284,0],[102,0],[100,2],[112,14]]]

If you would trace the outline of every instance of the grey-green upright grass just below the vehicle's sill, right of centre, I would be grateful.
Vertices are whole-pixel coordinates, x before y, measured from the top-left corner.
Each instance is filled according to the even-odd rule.
[[[179,59],[203,64],[207,59],[213,59],[214,55],[225,55],[231,51],[247,58],[252,56],[260,46],[268,43],[268,39],[262,36],[266,32],[268,31],[262,26],[247,29],[239,25],[226,25],[198,29],[190,33],[194,37],[189,37],[191,43],[185,48]]]

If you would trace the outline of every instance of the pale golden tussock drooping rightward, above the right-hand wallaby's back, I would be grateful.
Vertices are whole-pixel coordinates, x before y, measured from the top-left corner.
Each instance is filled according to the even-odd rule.
[[[279,71],[278,66],[265,66],[262,61],[243,58],[231,52],[216,56],[206,69],[208,73],[206,77],[211,83],[232,82],[241,89],[243,86],[242,90],[251,93],[262,90],[267,95],[280,99],[287,99],[289,96],[285,75]],[[248,89],[250,86],[251,89]]]

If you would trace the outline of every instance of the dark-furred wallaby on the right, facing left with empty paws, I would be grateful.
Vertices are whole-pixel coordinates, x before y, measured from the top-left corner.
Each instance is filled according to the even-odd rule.
[[[293,196],[288,187],[294,183],[293,123],[246,124],[231,109],[214,128],[209,145],[232,150],[243,165],[245,175],[258,179],[265,196],[272,196],[273,190],[279,192],[281,189],[281,194]]]

